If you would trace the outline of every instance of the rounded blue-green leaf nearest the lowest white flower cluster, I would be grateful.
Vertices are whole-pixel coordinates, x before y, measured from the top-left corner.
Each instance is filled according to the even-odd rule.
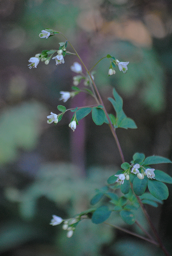
[[[92,215],[92,222],[94,224],[100,224],[106,221],[111,214],[107,206],[101,206]]]

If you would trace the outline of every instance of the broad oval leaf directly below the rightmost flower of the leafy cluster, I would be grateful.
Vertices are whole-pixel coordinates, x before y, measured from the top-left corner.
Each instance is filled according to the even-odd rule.
[[[169,196],[168,187],[158,180],[148,180],[149,192],[160,200],[166,200]]]

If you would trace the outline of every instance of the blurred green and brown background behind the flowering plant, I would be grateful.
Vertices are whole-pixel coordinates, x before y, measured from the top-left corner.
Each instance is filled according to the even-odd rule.
[[[125,160],[135,152],[172,159],[172,3],[170,0],[1,0],[0,1],[0,252],[9,256],[163,255],[158,248],[104,224],[82,221],[72,238],[52,214],[68,218],[89,208],[95,188],[106,184],[121,159],[106,124],[91,116],[68,127],[72,113],[54,126],[59,91],[70,91],[76,56],[56,67],[28,60],[57,49],[63,37],[40,39],[46,27],[61,31],[88,68],[110,54],[129,61],[128,72],[107,76],[109,62],[95,67],[95,82],[108,112],[113,87],[124,99],[124,112],[138,129],[117,129]],[[69,47],[67,50],[72,51]],[[66,108],[95,104],[81,93]],[[169,175],[169,165],[159,168]],[[157,168],[158,169],[158,168]],[[172,252],[172,188],[162,206],[147,206],[164,244]],[[156,214],[155,214],[156,211]],[[149,230],[141,213],[138,220]],[[116,216],[115,225],[127,227]]]

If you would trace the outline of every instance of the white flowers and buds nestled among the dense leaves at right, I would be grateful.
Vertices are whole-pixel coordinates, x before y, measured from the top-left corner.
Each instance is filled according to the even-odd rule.
[[[131,165],[130,168],[125,171],[124,173],[121,173],[121,174],[118,174],[118,175],[115,175],[115,177],[118,177],[116,182],[119,182],[120,185],[121,184],[124,184],[124,180],[129,180],[129,174],[130,173],[134,173],[137,175],[137,177],[140,179],[140,180],[143,180],[144,179],[144,176],[147,176],[149,179],[155,179],[155,174],[154,174],[154,170],[155,169],[145,169],[143,170],[143,166],[140,166],[139,164],[135,164],[135,165]],[[140,172],[140,171],[141,172]]]

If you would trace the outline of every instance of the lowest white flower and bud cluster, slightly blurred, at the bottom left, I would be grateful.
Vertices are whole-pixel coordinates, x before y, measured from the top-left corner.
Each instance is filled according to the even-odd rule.
[[[63,222],[63,230],[67,230],[67,237],[70,238],[73,235],[73,231],[75,230],[76,225],[81,220],[81,217],[70,218],[67,220],[63,220],[61,217],[53,215],[53,219],[50,222],[50,225],[55,226],[59,225]]]

